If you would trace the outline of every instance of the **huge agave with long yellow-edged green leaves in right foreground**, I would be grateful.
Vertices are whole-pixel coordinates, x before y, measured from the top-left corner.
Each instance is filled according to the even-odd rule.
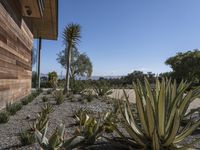
[[[172,83],[171,80],[162,79],[160,82],[157,79],[156,87],[152,90],[147,79],[144,86],[140,81],[134,83],[139,123],[124,92],[126,101],[119,102],[119,107],[122,125],[129,136],[115,126],[123,143],[145,150],[186,149],[193,146],[198,140],[182,147],[179,145],[200,125],[199,119],[196,122],[190,120],[184,128],[180,126],[189,104],[200,96],[200,88],[187,91],[189,85],[183,81],[177,85],[176,81]]]

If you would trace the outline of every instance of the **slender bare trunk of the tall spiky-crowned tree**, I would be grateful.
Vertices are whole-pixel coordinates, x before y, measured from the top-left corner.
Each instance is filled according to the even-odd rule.
[[[70,71],[71,54],[72,54],[71,50],[72,50],[72,46],[69,45],[68,51],[67,51],[68,55],[67,55],[67,58],[66,58],[66,60],[67,60],[67,71],[66,71],[66,79],[65,79],[65,88],[64,88],[64,91],[63,91],[64,94],[68,94],[68,92],[69,92],[69,83],[70,83],[69,71]]]

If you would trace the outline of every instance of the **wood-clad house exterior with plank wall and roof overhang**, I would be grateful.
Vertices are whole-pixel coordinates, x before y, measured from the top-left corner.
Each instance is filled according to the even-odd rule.
[[[0,0],[0,108],[31,91],[33,40],[57,34],[58,0]]]

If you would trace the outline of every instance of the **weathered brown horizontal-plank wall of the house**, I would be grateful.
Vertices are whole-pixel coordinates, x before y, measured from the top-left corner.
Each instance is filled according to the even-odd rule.
[[[0,108],[31,91],[33,35],[17,8],[0,2]]]

